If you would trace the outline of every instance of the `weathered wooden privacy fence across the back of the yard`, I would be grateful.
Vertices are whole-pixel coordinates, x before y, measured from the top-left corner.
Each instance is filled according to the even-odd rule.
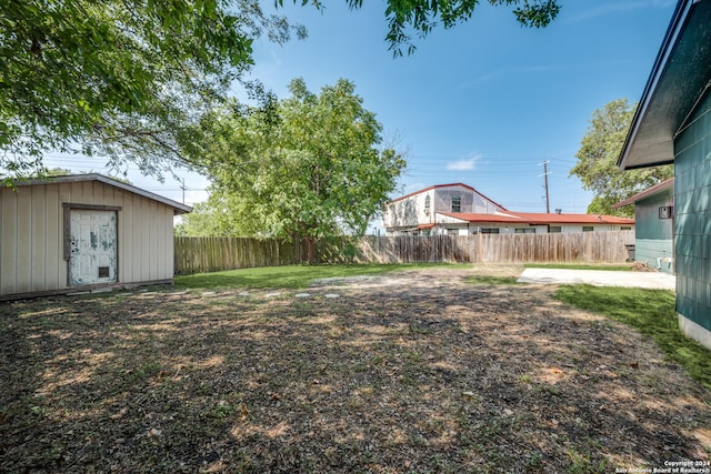
[[[624,262],[634,231],[363,236],[314,244],[312,263]],[[176,238],[176,273],[307,263],[302,240]]]

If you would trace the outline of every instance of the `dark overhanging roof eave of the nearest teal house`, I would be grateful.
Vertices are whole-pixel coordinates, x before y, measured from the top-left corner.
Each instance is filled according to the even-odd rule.
[[[618,159],[623,170],[674,161],[674,137],[709,89],[711,0],[680,0]]]

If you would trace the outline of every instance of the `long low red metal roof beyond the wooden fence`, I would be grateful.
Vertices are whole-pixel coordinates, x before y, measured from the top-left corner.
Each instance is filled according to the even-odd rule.
[[[495,214],[480,214],[465,212],[438,212],[438,214],[460,219],[467,222],[502,222],[530,225],[545,224],[618,224],[632,225],[634,219],[618,218],[615,215],[599,214],[558,214],[545,212],[505,212]]]

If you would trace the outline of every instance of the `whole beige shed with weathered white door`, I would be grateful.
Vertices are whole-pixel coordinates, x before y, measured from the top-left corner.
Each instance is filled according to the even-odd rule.
[[[191,208],[101,174],[0,188],[0,300],[173,280]]]

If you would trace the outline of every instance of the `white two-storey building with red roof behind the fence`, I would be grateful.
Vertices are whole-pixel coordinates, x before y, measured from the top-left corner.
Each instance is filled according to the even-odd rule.
[[[390,235],[468,235],[633,230],[634,220],[612,215],[508,211],[462,183],[438,184],[388,203],[383,224]]]

